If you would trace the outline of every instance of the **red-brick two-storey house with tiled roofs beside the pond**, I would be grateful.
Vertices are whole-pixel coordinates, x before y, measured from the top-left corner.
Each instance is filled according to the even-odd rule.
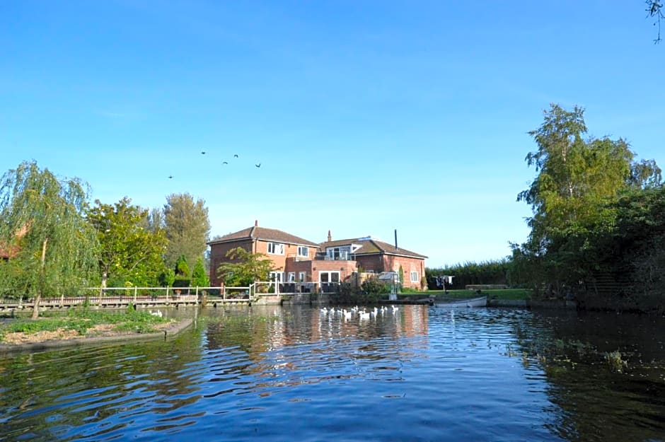
[[[222,236],[208,243],[210,246],[210,281],[220,284],[216,269],[228,261],[226,252],[241,247],[253,253],[265,253],[274,267],[271,278],[282,282],[316,282],[322,289],[327,284],[350,281],[353,274],[361,272],[399,272],[402,269],[403,286],[422,289],[427,258],[403,248],[371,237],[333,241],[328,232],[328,241],[316,244],[290,233],[272,228],[245,228]]]

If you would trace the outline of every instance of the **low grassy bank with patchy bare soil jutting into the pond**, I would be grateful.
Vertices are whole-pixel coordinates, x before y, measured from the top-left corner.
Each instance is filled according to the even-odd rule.
[[[0,342],[8,342],[8,337],[21,334],[39,335],[50,333],[54,337],[86,337],[108,335],[109,333],[151,333],[169,320],[151,315],[147,311],[127,308],[126,311],[101,311],[75,309],[67,314],[45,313],[37,320],[16,318],[0,325]]]

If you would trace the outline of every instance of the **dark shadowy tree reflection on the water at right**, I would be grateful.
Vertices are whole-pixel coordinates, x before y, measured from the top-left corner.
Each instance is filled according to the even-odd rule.
[[[516,322],[516,354],[527,366],[542,366],[549,399],[561,410],[550,431],[569,441],[659,440],[665,434],[664,325],[646,315],[558,311]],[[616,350],[628,361],[625,373],[604,359]]]

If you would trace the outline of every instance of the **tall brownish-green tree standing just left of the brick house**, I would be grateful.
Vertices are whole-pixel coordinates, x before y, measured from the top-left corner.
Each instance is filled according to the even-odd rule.
[[[180,255],[185,255],[187,262],[196,262],[203,256],[210,235],[208,209],[203,199],[195,202],[188,193],[168,195],[163,223],[168,239],[166,262],[169,266],[173,266]]]

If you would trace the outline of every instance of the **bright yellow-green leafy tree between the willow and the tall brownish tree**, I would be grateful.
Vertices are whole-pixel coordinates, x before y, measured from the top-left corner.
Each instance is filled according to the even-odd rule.
[[[145,228],[149,211],[131,201],[125,197],[111,205],[97,199],[87,214],[101,246],[103,280],[108,278],[110,286],[152,286],[165,270],[166,235]]]

